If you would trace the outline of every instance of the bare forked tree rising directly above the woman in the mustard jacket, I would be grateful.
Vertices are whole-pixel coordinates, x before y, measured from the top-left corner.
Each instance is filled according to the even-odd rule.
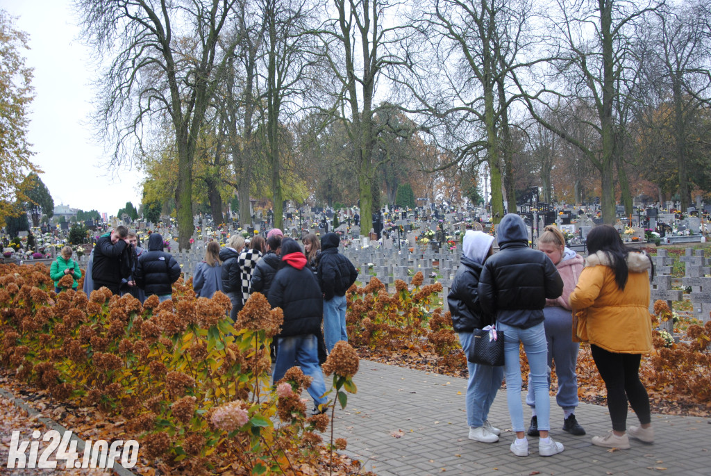
[[[597,117],[587,121],[587,127],[599,137],[593,147],[538,115],[528,96],[529,110],[536,120],[578,147],[598,169],[605,223],[615,221],[614,171],[619,163],[617,141],[620,130],[624,129],[621,118],[615,114],[615,102],[626,94],[623,85],[628,84],[640,67],[632,48],[636,43],[635,24],[658,6],[654,0],[643,4],[627,0],[581,0],[570,4],[557,0],[558,16],[550,18],[550,26],[558,39],[555,57],[562,59],[552,61],[554,69],[546,79],[555,82],[562,78],[564,81],[561,89],[552,95],[570,95],[594,105]],[[525,90],[520,78],[517,83],[522,91]],[[557,100],[551,100],[548,93],[551,93],[550,86],[545,86],[535,97],[547,107],[557,107]]]

